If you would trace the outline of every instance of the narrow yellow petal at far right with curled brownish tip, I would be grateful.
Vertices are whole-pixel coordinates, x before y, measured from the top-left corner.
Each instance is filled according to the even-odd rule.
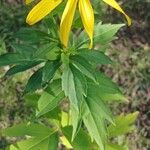
[[[103,0],[105,3],[107,3],[108,5],[110,5],[111,7],[117,9],[118,11],[120,11],[122,14],[124,14],[124,16],[127,19],[128,25],[131,25],[131,19],[130,17],[122,10],[122,8],[119,6],[119,4],[115,1],[115,0]]]

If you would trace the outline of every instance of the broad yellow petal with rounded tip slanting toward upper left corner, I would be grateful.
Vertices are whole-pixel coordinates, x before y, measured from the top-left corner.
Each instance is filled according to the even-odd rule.
[[[62,0],[41,0],[28,14],[26,22],[33,25],[48,15]]]

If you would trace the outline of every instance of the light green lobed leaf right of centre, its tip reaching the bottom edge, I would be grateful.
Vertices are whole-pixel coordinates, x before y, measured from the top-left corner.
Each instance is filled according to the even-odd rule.
[[[96,91],[96,92],[95,92]],[[92,139],[101,150],[107,139],[106,120],[113,123],[112,114],[102,99],[99,98],[95,84],[88,84],[88,95],[83,108],[83,122]]]

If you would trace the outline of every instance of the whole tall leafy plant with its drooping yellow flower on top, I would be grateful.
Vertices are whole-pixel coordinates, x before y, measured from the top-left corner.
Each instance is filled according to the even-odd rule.
[[[103,1],[131,24],[115,0]],[[22,28],[16,33],[19,42],[12,44],[14,52],[0,56],[1,67],[11,66],[7,76],[36,70],[23,93],[35,117],[3,130],[6,136],[23,137],[10,150],[57,150],[62,145],[75,150],[128,149],[126,141],[117,139],[134,130],[138,113],[113,115],[110,103],[126,98],[97,67],[113,63],[105,51],[124,24],[102,24],[98,5],[98,0],[41,0],[26,19],[33,25],[45,17],[41,30]]]

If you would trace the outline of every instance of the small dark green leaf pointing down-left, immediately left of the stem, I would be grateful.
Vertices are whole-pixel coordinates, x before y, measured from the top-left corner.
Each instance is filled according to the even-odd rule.
[[[43,83],[48,83],[55,75],[55,72],[60,67],[60,62],[58,60],[56,61],[47,61],[45,66],[43,67],[43,76],[42,81]]]

